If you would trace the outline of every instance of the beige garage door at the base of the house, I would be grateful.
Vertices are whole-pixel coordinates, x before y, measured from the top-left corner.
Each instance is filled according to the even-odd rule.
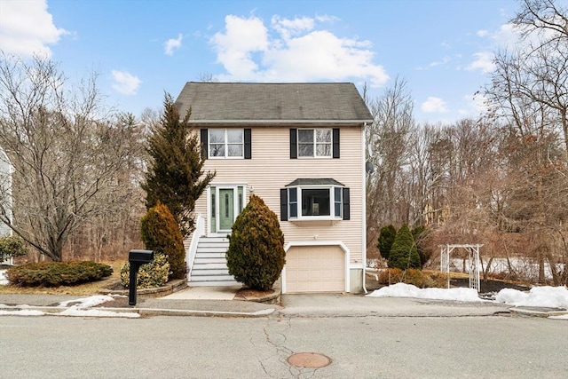
[[[286,253],[286,292],[343,292],[345,253],[339,246],[292,247]]]

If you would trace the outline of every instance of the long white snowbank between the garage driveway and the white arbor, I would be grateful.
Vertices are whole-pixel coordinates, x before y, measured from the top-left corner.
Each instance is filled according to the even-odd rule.
[[[475,288],[417,288],[412,284],[396,283],[379,288],[367,295],[370,297],[415,297],[432,300],[480,302]]]

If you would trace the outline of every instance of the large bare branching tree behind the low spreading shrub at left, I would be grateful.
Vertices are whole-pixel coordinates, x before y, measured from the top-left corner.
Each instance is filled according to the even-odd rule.
[[[130,160],[128,127],[105,112],[96,78],[75,88],[51,60],[0,61],[0,145],[15,168],[13,222],[8,209],[0,219],[55,261],[79,227],[130,196],[116,195]]]

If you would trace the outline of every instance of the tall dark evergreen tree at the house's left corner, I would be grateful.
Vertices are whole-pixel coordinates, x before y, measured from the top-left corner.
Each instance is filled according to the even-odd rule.
[[[189,121],[191,109],[181,119],[169,93],[164,96],[163,106],[161,122],[148,138],[151,162],[142,188],[146,191],[146,209],[162,201],[185,238],[193,232],[195,201],[215,172],[202,170],[198,133]]]

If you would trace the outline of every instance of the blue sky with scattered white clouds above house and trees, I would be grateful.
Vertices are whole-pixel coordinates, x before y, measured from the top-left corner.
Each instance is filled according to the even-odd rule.
[[[563,1],[562,3],[564,3]],[[475,116],[493,52],[517,36],[513,0],[0,0],[0,49],[99,73],[109,105],[140,115],[185,82],[406,80],[418,122]]]

